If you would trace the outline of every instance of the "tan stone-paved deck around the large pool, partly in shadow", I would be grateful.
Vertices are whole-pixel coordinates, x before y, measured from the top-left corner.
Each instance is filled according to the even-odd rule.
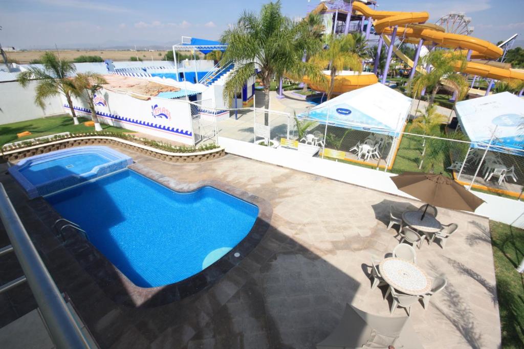
[[[27,201],[3,170],[0,181],[52,276],[101,347],[313,348],[335,328],[345,303],[389,314],[385,289],[370,289],[370,257],[383,258],[398,244],[395,231],[386,230],[389,205],[400,211],[420,202],[232,155],[178,165],[115,150],[177,181],[218,180],[238,187],[269,201],[273,213],[253,252],[213,286],[164,306],[130,307],[108,297],[57,243],[44,223],[51,214],[48,205]],[[438,219],[459,224],[459,231],[445,250],[425,243],[417,250],[417,264],[449,283],[429,309],[412,307],[414,329],[425,348],[500,347],[488,220],[443,209]],[[2,246],[6,239],[2,226]],[[16,261],[6,264],[3,258],[2,283],[21,275]],[[34,307],[27,285],[0,295],[0,326]]]

